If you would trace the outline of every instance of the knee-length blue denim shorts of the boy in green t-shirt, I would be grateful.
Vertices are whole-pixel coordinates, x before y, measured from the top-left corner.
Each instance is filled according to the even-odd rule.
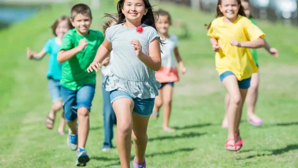
[[[63,110],[65,113],[65,120],[72,122],[77,119],[77,109],[85,107],[91,110],[92,100],[95,93],[95,85],[84,85],[77,91],[72,91],[68,88],[61,86],[63,98]]]

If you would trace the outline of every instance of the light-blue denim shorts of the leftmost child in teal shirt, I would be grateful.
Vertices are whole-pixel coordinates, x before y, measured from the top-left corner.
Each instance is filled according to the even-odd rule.
[[[48,88],[53,103],[62,100],[60,80],[54,80],[49,78]]]

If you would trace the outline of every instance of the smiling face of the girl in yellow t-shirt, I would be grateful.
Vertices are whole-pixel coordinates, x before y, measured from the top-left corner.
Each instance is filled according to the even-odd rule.
[[[226,18],[233,20],[237,18],[240,4],[237,0],[222,0],[218,7]]]

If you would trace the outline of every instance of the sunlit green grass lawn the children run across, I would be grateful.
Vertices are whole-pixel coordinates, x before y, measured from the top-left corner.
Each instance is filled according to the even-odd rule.
[[[103,13],[113,13],[112,1],[92,9],[93,29],[101,30]],[[60,15],[69,15],[72,4],[53,5],[35,17],[0,31],[0,167],[75,167],[75,152],[68,149],[66,137],[57,132],[59,120],[50,131],[44,119],[51,106],[47,90],[48,59],[26,58],[26,47],[40,50],[52,37],[50,25]],[[227,130],[221,128],[226,93],[215,71],[214,52],[206,36],[205,23],[214,14],[203,14],[186,7],[159,4],[175,20],[186,23],[189,36],[180,39],[179,50],[188,68],[176,83],[170,126],[175,133],[162,131],[162,118],[150,119],[146,151],[149,168],[184,167],[298,167],[298,57],[297,28],[258,21],[268,42],[279,49],[280,58],[259,50],[260,97],[256,112],[265,121],[256,128],[241,123],[242,152],[224,150]],[[177,35],[178,27],[171,28]],[[98,73],[98,83],[101,83]],[[103,118],[101,88],[93,101],[91,130],[86,149],[91,156],[87,167],[120,167],[117,149],[101,152]],[[60,113],[58,114],[60,115]],[[162,116],[161,116],[162,117]],[[115,139],[113,140],[115,144]],[[132,149],[132,158],[134,151]]]

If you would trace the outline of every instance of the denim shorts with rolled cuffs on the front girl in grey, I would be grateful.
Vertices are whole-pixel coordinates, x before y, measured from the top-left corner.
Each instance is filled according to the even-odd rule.
[[[141,117],[149,117],[153,112],[155,98],[140,99],[138,97],[132,98],[130,94],[125,91],[112,90],[110,91],[111,104],[120,98],[129,98],[134,101],[133,113]]]

